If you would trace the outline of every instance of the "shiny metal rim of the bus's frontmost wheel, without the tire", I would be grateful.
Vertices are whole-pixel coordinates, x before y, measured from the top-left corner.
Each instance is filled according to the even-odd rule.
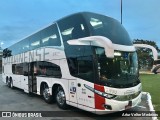
[[[65,103],[65,101],[66,101],[66,97],[65,97],[64,91],[62,91],[62,90],[58,91],[56,98],[57,98],[57,102],[60,105],[63,105]]]

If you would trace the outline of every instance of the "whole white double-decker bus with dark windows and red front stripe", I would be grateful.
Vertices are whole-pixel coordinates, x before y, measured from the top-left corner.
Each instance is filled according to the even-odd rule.
[[[135,47],[115,19],[76,13],[3,51],[3,81],[65,109],[96,114],[141,101]]]

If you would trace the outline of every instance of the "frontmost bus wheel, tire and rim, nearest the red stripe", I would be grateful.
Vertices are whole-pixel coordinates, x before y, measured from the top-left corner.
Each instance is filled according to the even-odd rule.
[[[56,92],[56,102],[59,108],[62,108],[62,109],[67,108],[66,96],[61,86],[58,87],[57,92]]]

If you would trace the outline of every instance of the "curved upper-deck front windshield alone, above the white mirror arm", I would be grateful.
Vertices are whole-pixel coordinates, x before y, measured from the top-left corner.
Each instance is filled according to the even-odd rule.
[[[91,35],[109,38],[115,44],[132,45],[132,41],[125,28],[117,20],[92,13],[85,13]]]

